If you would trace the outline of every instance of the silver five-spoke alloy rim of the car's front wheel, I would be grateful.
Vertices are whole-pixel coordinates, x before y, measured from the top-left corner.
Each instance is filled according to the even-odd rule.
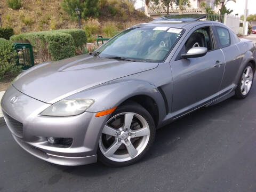
[[[103,127],[99,148],[111,161],[125,162],[142,153],[149,137],[145,118],[137,113],[121,113],[111,117]]]

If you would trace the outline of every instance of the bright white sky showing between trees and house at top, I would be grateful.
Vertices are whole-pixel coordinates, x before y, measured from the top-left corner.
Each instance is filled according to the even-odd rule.
[[[230,10],[234,10],[232,14],[238,13],[238,15],[244,14],[244,4],[245,0],[236,0],[236,3],[233,1],[229,1],[226,6]],[[135,3],[135,8],[138,9],[139,7],[142,7],[143,1],[137,0]],[[248,0],[248,6],[247,9],[249,9],[249,14],[256,14],[256,0]]]

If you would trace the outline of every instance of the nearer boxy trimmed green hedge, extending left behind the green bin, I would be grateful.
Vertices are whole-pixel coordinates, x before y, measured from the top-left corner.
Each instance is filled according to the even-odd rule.
[[[10,40],[15,43],[30,43],[36,52],[35,55],[43,62],[75,56],[73,37],[58,30],[14,35]]]

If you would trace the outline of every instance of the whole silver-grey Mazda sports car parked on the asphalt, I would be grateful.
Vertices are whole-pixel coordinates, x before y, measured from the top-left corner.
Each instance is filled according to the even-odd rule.
[[[61,165],[130,165],[156,129],[250,93],[256,47],[227,26],[161,18],[124,30],[90,54],[37,65],[1,102],[13,138]]]

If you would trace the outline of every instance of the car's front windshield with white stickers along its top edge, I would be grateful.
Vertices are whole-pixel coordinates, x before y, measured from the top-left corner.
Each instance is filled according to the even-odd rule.
[[[183,29],[170,27],[139,27],[123,31],[97,50],[99,57],[126,58],[133,61],[162,62]]]

